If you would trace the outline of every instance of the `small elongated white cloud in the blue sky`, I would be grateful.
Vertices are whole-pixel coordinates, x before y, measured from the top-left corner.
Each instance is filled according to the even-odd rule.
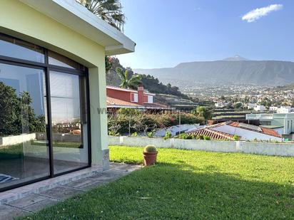
[[[282,4],[271,4],[270,6],[249,11],[248,13],[243,15],[242,20],[250,23],[260,19],[263,16],[267,16],[272,11],[278,11],[280,9],[283,9]]]

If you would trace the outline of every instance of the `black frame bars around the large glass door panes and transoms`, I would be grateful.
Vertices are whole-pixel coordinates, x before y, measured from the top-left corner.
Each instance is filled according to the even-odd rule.
[[[6,36],[9,38],[15,38],[14,36],[9,36],[4,33],[0,33],[1,36]],[[24,41],[20,38],[15,38],[19,41]],[[28,41],[24,41],[26,43],[30,43]],[[39,46],[41,47],[41,46]],[[85,66],[84,70],[76,70],[74,68],[66,68],[63,66],[55,66],[49,64],[49,53],[48,49],[41,47],[44,49],[44,63],[39,63],[35,61],[29,61],[9,56],[1,56],[0,55],[0,63],[9,64],[13,66],[21,66],[21,67],[27,67],[27,68],[35,68],[44,70],[45,75],[45,83],[46,83],[46,113],[47,113],[47,124],[46,124],[46,134],[47,134],[47,146],[49,147],[49,176],[41,177],[39,179],[32,179],[27,182],[21,182],[19,184],[13,184],[9,187],[3,187],[0,188],[0,192],[4,192],[10,189],[15,189],[18,187],[23,187],[27,184],[32,184],[34,182],[39,182],[44,179],[50,179],[53,177],[59,177],[64,174],[69,174],[71,172],[76,172],[81,169],[86,169],[88,167],[91,167],[91,117],[90,117],[90,90],[89,90],[89,78],[88,78],[88,68]],[[0,48],[1,49],[1,48]],[[53,142],[52,142],[52,120],[51,120],[51,90],[50,90],[50,71],[56,71],[59,73],[67,73],[71,75],[78,75],[81,77],[85,77],[86,80],[86,113],[87,113],[87,137],[88,137],[88,164],[83,167],[78,167],[76,169],[71,169],[66,172],[60,172],[58,174],[54,174],[54,152],[53,152]]]

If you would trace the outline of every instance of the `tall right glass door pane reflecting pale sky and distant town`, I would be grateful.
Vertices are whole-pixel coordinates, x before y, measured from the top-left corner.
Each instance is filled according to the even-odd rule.
[[[50,72],[55,174],[88,165],[83,79],[78,75]]]

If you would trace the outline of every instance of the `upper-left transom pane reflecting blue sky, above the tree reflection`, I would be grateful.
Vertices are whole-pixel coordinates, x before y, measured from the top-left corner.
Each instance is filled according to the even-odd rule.
[[[0,55],[44,63],[44,50],[26,41],[0,35]]]

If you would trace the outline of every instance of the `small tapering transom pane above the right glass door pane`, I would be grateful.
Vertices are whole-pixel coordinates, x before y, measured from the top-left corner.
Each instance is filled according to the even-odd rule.
[[[70,58],[66,58],[65,56],[62,56],[59,53],[49,51],[48,55],[49,55],[49,58],[48,58],[49,64],[51,65],[62,66],[66,68],[76,69],[76,70],[84,70],[84,67],[81,64],[76,63]]]

